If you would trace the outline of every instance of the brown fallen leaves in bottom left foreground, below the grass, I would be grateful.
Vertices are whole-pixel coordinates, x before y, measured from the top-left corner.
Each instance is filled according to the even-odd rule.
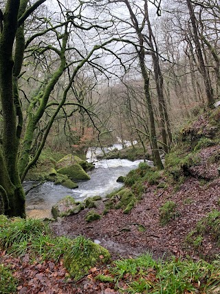
[[[100,255],[102,257],[102,255]],[[100,257],[100,258],[101,258]],[[23,258],[12,258],[0,251],[0,262],[14,270],[14,277],[19,280],[18,294],[117,294],[114,284],[102,283],[95,279],[96,275],[109,273],[108,269],[93,267],[89,275],[79,282],[74,282],[63,266],[63,260],[58,263],[52,260],[30,260],[25,254]]]

